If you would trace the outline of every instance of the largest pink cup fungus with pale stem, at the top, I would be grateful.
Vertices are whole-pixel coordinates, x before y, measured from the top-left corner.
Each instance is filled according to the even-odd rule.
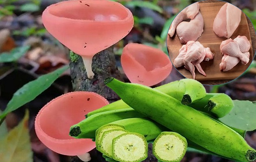
[[[43,25],[63,45],[81,55],[92,79],[93,56],[114,45],[132,29],[129,9],[111,0],[69,0],[48,6]]]

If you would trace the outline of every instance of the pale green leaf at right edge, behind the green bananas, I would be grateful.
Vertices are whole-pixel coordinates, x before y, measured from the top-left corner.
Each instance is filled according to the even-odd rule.
[[[256,101],[233,100],[232,111],[219,118],[224,124],[241,130],[252,131],[256,129]]]

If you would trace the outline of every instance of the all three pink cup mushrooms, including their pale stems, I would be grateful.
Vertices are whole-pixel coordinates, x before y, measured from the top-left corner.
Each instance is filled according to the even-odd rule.
[[[110,0],[59,2],[48,6],[42,19],[50,34],[82,57],[89,79],[94,77],[93,56],[124,38],[134,24],[130,10]],[[147,86],[163,81],[172,70],[163,51],[137,43],[124,47],[121,66],[132,83]],[[37,136],[57,153],[89,161],[87,152],[95,148],[95,142],[74,139],[69,136],[69,128],[85,119],[85,114],[106,104],[104,97],[93,92],[63,94],[39,111],[35,120]]]

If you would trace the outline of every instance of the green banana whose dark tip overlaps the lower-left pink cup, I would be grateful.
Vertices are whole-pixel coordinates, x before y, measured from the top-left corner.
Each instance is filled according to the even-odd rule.
[[[132,108],[106,111],[92,115],[78,124],[71,126],[69,135],[76,139],[93,139],[95,131],[101,126],[121,119],[132,117],[146,117]]]

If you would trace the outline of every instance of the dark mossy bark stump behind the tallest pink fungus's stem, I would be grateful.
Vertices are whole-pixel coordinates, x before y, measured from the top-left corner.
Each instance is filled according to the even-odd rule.
[[[74,54],[72,54],[74,58]],[[76,58],[76,57],[75,57]],[[93,79],[88,79],[82,58],[79,56],[75,60],[71,59],[70,74],[74,91],[89,91],[102,95],[109,102],[119,99],[119,97],[104,84],[106,77],[114,77],[123,81],[121,73],[117,70],[113,47],[97,53],[93,57],[92,70],[95,73]]]

